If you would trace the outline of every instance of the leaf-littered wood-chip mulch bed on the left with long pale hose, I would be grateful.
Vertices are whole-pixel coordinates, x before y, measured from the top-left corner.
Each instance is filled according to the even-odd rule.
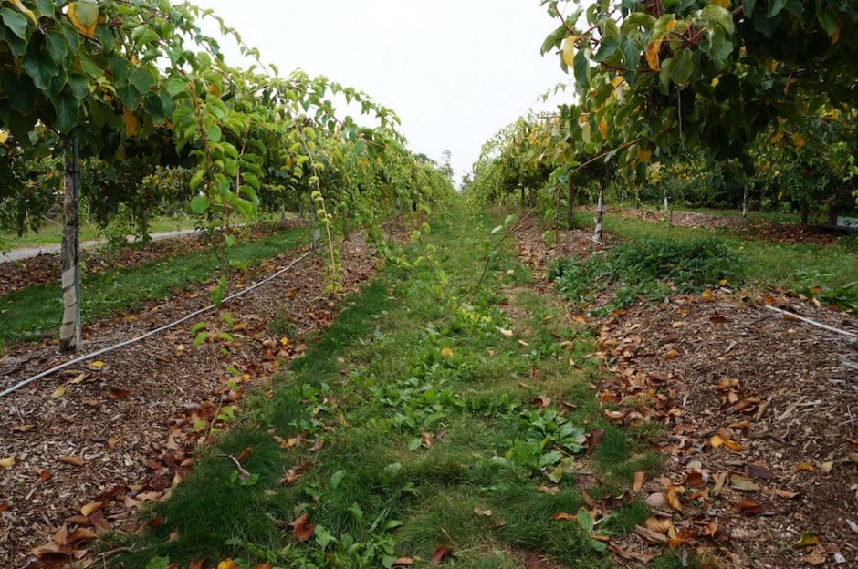
[[[261,273],[271,274],[301,253],[271,259]],[[378,264],[361,233],[344,243],[341,259],[346,292],[369,279]],[[220,426],[218,411],[240,407],[246,389],[266,385],[302,356],[300,338],[330,325],[339,304],[326,293],[323,272],[324,259],[311,254],[225,305],[235,320],[232,342],[192,346],[190,328],[197,322],[208,330],[225,326],[214,311],[0,399],[0,458],[15,458],[14,466],[0,471],[5,566],[59,567],[69,559],[89,566],[89,543],[98,533],[133,531],[139,506],[169,495],[190,471],[194,447]],[[250,284],[234,282],[230,290],[242,285]],[[138,336],[208,303],[208,291],[176,295],[140,314],[88,326],[85,351]],[[288,339],[268,329],[284,310],[293,327]],[[228,356],[219,354],[221,347]],[[0,388],[60,357],[50,342],[13,348],[0,364]],[[227,372],[228,366],[241,376]],[[239,388],[227,385],[235,381]]]

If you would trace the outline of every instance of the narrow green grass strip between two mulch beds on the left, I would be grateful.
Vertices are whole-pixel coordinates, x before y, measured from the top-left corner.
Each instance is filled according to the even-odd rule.
[[[236,243],[230,261],[248,266],[294,249],[309,241],[306,228],[272,233],[251,242]],[[179,290],[211,281],[221,263],[213,250],[172,255],[155,263],[84,274],[81,316],[84,324],[118,310],[135,310]],[[0,296],[0,347],[37,340],[59,329],[62,295],[59,284],[32,285]]]

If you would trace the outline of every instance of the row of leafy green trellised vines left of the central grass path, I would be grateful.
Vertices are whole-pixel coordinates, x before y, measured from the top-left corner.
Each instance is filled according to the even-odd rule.
[[[254,65],[227,65],[201,30],[204,18]],[[374,126],[340,117],[334,100],[358,106]],[[350,221],[377,227],[452,190],[434,163],[406,150],[399,123],[355,88],[301,71],[280,77],[222,18],[195,5],[0,2],[0,200],[16,208],[19,231],[56,200],[28,183],[27,168],[65,155],[63,349],[79,347],[78,154],[132,181],[154,166],[190,171],[190,208],[210,229],[228,228],[261,203],[304,196],[298,200],[309,199],[325,228],[336,287],[335,220],[344,230]],[[137,191],[113,190],[94,197],[115,210]],[[233,238],[219,235],[228,258]]]

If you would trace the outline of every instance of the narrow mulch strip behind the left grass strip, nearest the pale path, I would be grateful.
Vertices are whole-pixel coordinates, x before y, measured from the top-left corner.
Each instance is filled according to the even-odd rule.
[[[276,224],[256,225],[247,232],[246,239],[257,239],[277,229],[304,225],[302,220],[288,220]],[[80,253],[81,266],[86,274],[115,271],[139,264],[154,263],[176,254],[192,253],[209,246],[200,234],[161,239],[146,244],[130,245],[112,251],[105,248],[89,249]],[[32,285],[56,284],[59,287],[59,253],[40,254],[23,261],[0,263],[0,296],[8,295]]]

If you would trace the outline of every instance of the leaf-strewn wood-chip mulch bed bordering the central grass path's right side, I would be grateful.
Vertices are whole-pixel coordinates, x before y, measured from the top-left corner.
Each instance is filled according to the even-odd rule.
[[[554,254],[594,251],[580,232],[547,247],[536,223],[517,239],[537,274]],[[654,517],[612,545],[617,564],[669,548],[708,567],[858,564],[858,341],[765,304],[858,335],[853,316],[759,291],[674,295],[591,321],[605,416],[664,429],[664,475],[625,498]]]

